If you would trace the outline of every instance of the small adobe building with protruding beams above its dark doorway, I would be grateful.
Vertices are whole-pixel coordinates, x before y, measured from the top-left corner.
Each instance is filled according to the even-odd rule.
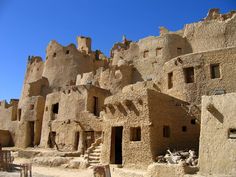
[[[142,169],[167,149],[197,150],[200,127],[183,108],[186,104],[160,93],[152,82],[126,86],[108,97],[102,162]]]

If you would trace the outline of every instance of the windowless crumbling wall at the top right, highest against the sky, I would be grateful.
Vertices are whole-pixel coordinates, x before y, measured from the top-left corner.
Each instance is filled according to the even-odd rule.
[[[235,24],[235,11],[220,14],[219,9],[212,9],[203,21],[186,25],[184,37],[194,53],[233,47],[236,45]]]

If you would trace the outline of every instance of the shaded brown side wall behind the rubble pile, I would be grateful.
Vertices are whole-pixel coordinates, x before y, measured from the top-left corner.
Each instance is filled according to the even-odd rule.
[[[196,117],[184,109],[187,103],[151,90],[148,98],[153,157],[166,154],[167,149],[198,151],[200,125]],[[164,137],[164,127],[167,126],[169,137]]]

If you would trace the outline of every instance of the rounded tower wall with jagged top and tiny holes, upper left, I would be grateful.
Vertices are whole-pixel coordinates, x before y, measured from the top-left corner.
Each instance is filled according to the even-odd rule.
[[[75,85],[78,74],[95,71],[108,63],[96,60],[94,53],[79,51],[74,44],[63,47],[56,41],[49,43],[46,55],[43,77],[48,79],[51,89]]]

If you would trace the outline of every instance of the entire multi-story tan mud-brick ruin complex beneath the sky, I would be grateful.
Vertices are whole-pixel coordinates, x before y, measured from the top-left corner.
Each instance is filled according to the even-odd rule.
[[[45,60],[29,57],[21,98],[0,103],[3,146],[82,155],[99,146],[90,165],[141,169],[167,149],[199,149],[202,174],[236,174],[235,11],[124,37],[109,58],[91,45],[51,41]]]

